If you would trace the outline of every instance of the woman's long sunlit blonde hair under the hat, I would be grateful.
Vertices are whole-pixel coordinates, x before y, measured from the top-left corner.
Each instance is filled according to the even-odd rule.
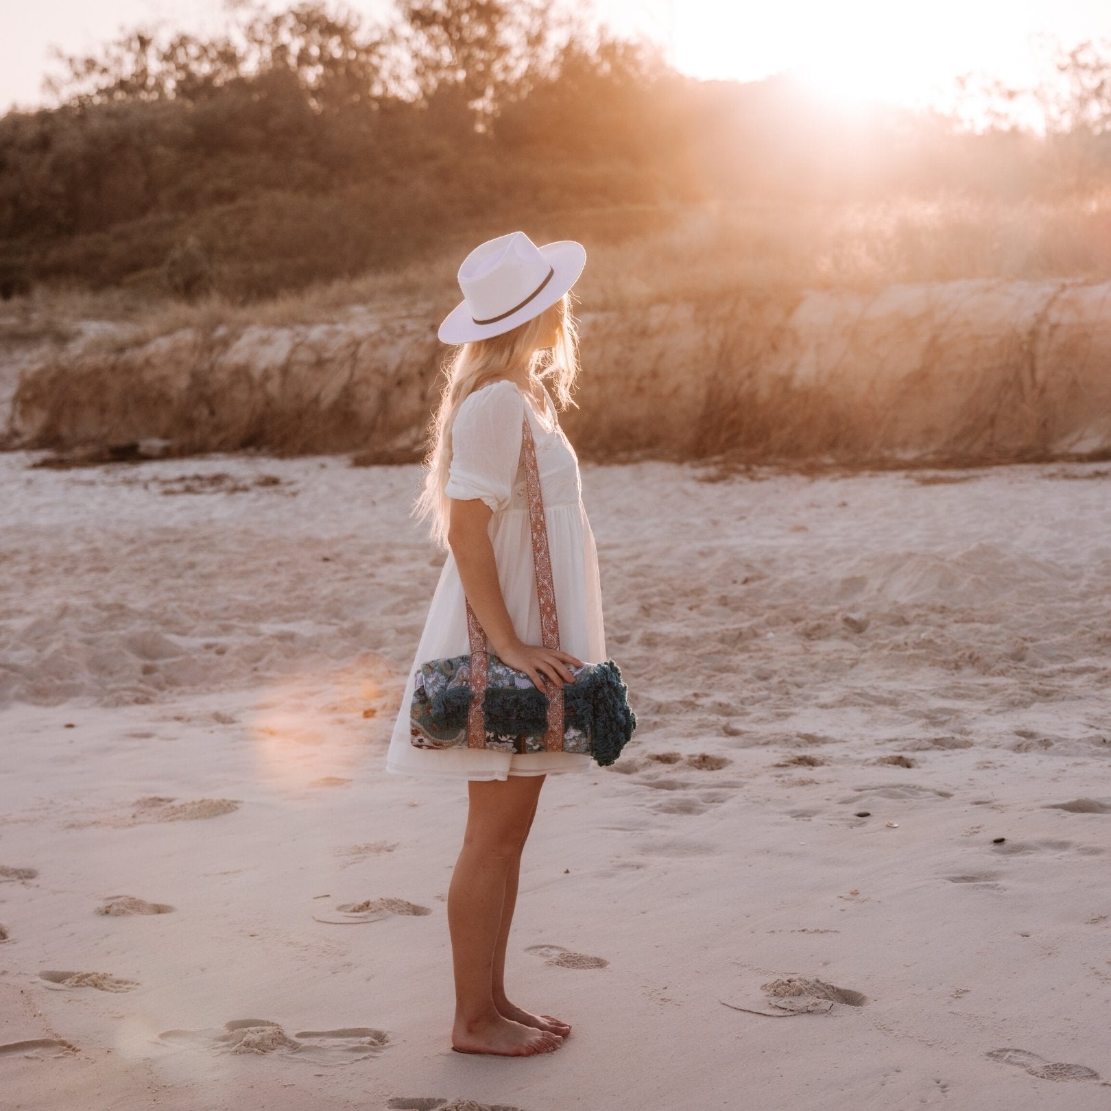
[[[441,376],[440,403],[429,423],[426,439],[424,484],[413,504],[418,520],[431,518],[432,542],[448,550],[450,499],[443,488],[451,467],[451,427],[463,400],[497,378],[516,379],[522,368],[537,381],[549,379],[554,387],[554,403],[560,409],[574,404],[571,389],[579,377],[579,330],[571,314],[570,292],[551,308],[511,331],[487,340],[462,343],[448,357]],[[554,330],[556,343],[540,343]]]

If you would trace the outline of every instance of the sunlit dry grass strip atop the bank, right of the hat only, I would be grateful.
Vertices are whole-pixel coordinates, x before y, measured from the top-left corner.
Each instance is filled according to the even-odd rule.
[[[1111,192],[687,210],[667,230],[597,252],[579,289],[601,310],[961,278],[1111,278]]]

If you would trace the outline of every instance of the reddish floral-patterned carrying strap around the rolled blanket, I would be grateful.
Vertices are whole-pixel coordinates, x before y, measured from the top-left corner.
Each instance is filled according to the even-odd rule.
[[[548,528],[544,522],[544,503],[540,497],[540,468],[537,466],[537,446],[529,428],[528,416],[522,417],[523,434],[521,450],[524,453],[524,473],[529,489],[529,529],[532,533],[532,567],[537,578],[537,599],[540,603],[540,638],[544,648],[559,648],[559,620],[556,615],[556,588],[552,585],[552,561],[548,551]],[[482,698],[487,689],[488,654],[486,633],[479,619],[467,602],[467,635],[471,647],[471,705],[467,714],[467,747],[486,747],[486,720],[482,713]],[[563,751],[563,691],[554,689],[554,683],[544,679],[548,693],[548,731],[544,733],[544,749],[549,752]]]

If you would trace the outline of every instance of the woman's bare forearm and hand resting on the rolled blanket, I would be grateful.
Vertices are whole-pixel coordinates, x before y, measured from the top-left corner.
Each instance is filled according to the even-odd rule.
[[[544,689],[541,673],[559,687],[572,682],[568,664],[581,667],[582,660],[559,649],[526,644],[517,635],[498,580],[489,532],[493,516],[490,507],[480,498],[450,498],[449,506],[448,544],[456,557],[463,592],[494,654],[509,667],[523,671],[538,690]]]

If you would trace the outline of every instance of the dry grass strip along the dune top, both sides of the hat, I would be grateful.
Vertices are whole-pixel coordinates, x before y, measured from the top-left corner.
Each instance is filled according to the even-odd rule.
[[[614,216],[623,210],[614,209]],[[590,263],[577,292],[590,310],[631,309],[738,293],[815,288],[878,289],[892,282],[958,278],[1111,278],[1111,191],[1058,202],[1012,204],[958,196],[870,203],[745,202],[735,209],[661,209],[657,230],[621,239],[590,229],[603,212],[564,213],[544,223],[578,234]],[[577,232],[582,223],[583,231]],[[540,241],[538,229],[526,229]],[[551,232],[552,236],[557,232]],[[458,300],[459,249],[386,273],[310,286],[272,300],[194,303],[137,290],[41,287],[24,311],[0,314],[0,340],[64,330],[74,321],[127,326],[136,336],[180,328],[279,327],[344,320],[352,312],[411,311],[437,318]]]

